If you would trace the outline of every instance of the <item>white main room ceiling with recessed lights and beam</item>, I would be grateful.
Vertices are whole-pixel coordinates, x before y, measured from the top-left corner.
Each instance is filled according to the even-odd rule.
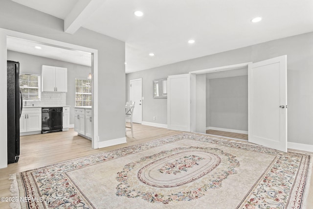
[[[127,73],[313,31],[313,0],[13,1],[124,41]]]

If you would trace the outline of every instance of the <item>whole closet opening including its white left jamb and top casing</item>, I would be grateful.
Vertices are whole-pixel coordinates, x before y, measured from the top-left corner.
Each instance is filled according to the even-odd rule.
[[[250,64],[189,72],[192,132],[248,139]]]

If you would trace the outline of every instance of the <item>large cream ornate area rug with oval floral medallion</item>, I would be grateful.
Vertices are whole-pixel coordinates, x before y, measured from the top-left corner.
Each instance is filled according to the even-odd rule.
[[[308,154],[179,134],[14,174],[12,207],[304,209],[311,168]]]

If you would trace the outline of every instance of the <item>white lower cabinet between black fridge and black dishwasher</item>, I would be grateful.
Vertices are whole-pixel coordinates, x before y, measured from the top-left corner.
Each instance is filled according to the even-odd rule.
[[[40,134],[41,120],[41,108],[24,108],[20,117],[21,136]]]

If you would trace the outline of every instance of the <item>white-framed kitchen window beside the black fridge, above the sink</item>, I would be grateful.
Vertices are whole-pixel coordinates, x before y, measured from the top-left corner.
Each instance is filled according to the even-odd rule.
[[[20,73],[20,89],[24,101],[40,101],[40,75]]]

